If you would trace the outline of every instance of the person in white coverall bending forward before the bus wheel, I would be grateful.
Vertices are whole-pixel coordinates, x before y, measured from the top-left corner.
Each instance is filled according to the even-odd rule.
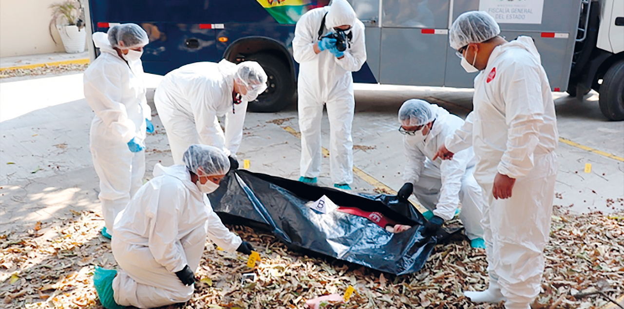
[[[266,73],[257,62],[187,64],[165,75],[154,94],[167,131],[173,163],[193,144],[212,145],[238,169],[236,151],[243,139],[248,102],[266,90]],[[225,115],[225,135],[217,116]]]

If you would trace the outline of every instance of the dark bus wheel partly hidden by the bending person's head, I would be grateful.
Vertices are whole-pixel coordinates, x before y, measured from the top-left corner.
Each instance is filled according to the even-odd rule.
[[[245,60],[258,62],[268,77],[266,91],[255,101],[249,102],[247,108],[251,112],[278,112],[293,102],[295,81],[284,61],[265,52],[245,57]]]

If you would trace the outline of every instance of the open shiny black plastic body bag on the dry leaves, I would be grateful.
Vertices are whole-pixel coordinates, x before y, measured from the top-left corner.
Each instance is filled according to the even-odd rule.
[[[336,210],[323,214],[306,205],[323,195],[338,206],[380,212],[412,228],[394,234],[368,218]],[[396,275],[420,270],[436,243],[450,235],[441,231],[422,237],[426,219],[394,195],[348,194],[246,170],[229,172],[208,198],[224,223],[268,230],[291,250],[305,249]]]

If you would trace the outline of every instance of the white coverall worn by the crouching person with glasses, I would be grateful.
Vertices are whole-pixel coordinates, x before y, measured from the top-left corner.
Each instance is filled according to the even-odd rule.
[[[476,163],[472,147],[457,152],[452,160],[431,160],[446,137],[459,129],[464,120],[435,104],[429,105],[429,109],[435,121],[426,139],[419,142],[411,135],[403,137],[407,157],[403,179],[414,185],[414,195],[419,202],[445,221],[455,216],[461,200],[459,217],[467,237],[470,240],[483,238],[480,220],[484,199],[472,175]]]

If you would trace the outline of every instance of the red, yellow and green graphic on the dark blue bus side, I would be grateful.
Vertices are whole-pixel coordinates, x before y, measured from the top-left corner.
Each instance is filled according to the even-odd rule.
[[[296,24],[301,15],[329,1],[314,0],[256,0],[280,24]]]

